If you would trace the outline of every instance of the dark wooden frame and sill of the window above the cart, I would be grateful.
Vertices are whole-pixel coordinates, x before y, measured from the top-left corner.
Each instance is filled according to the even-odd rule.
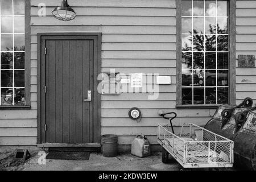
[[[181,63],[181,1],[176,0],[176,108],[177,109],[216,109],[220,104],[182,105],[182,63]],[[229,24],[229,102],[236,104],[236,0],[227,0]]]

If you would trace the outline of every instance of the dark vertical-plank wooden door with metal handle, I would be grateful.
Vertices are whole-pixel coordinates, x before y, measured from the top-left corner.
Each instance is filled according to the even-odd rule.
[[[46,143],[93,143],[93,40],[45,46]]]

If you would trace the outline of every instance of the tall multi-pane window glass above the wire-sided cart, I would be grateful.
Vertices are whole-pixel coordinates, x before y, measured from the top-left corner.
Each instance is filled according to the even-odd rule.
[[[228,1],[181,1],[182,104],[226,104]]]

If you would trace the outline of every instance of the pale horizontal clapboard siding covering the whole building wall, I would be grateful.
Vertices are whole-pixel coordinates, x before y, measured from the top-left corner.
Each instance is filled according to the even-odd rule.
[[[114,68],[121,73],[170,75],[171,85],[159,85],[159,97],[148,100],[151,90],[101,96],[102,134],[117,134],[119,144],[130,144],[137,134],[149,135],[156,144],[157,123],[168,123],[158,111],[175,111],[175,131],[183,123],[200,126],[214,109],[176,109],[176,5],[175,0],[77,0],[69,5],[76,19],[61,22],[51,11],[60,1],[46,0],[46,16],[38,16],[39,0],[31,0],[31,110],[0,110],[0,145],[35,145],[37,117],[37,33],[102,32],[102,72]],[[236,59],[238,55],[256,55],[256,1],[237,1]],[[238,64],[237,64],[238,67]],[[256,68],[237,68],[237,103],[251,97],[256,101]],[[152,87],[153,86],[153,87]],[[127,89],[131,89],[129,85]],[[153,89],[154,91],[154,89]],[[141,122],[128,117],[131,107],[142,110]],[[29,134],[27,134],[29,133]]]

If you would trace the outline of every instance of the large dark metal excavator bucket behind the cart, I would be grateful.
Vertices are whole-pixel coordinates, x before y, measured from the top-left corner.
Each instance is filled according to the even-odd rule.
[[[234,141],[236,166],[256,170],[256,110],[250,98],[245,101],[220,106],[205,129]]]

